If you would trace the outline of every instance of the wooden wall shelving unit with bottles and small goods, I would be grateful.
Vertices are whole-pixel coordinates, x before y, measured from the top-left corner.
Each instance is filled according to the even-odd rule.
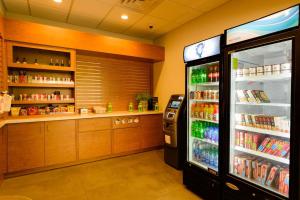
[[[19,83],[21,76],[42,77],[47,80],[66,78],[75,81],[76,52],[72,49],[34,45],[20,42],[7,42],[7,70],[10,83],[9,92],[15,95],[12,105],[27,108],[33,105],[75,104],[75,83]],[[26,61],[26,63],[22,63]],[[35,64],[34,62],[37,62]],[[51,63],[51,64],[50,64]],[[56,65],[58,63],[60,66]],[[21,72],[22,71],[22,72]],[[58,94],[69,96],[69,100],[18,100],[20,95]]]

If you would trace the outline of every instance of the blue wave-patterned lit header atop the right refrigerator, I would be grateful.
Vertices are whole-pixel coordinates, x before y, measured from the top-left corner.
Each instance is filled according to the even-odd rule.
[[[226,45],[299,26],[299,5],[261,19],[227,29]]]

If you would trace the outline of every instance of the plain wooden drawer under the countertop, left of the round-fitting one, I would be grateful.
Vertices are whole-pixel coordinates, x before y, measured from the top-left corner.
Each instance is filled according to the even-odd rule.
[[[80,119],[79,132],[111,129],[111,118]]]

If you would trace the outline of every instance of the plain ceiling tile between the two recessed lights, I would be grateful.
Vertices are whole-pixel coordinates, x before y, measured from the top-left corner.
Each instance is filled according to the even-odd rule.
[[[96,28],[111,8],[112,4],[100,0],[74,1],[68,22]]]

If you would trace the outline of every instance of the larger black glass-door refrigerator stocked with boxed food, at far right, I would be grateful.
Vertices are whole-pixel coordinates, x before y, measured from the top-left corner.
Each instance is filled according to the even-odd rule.
[[[299,6],[225,35],[224,199],[299,199]]]

